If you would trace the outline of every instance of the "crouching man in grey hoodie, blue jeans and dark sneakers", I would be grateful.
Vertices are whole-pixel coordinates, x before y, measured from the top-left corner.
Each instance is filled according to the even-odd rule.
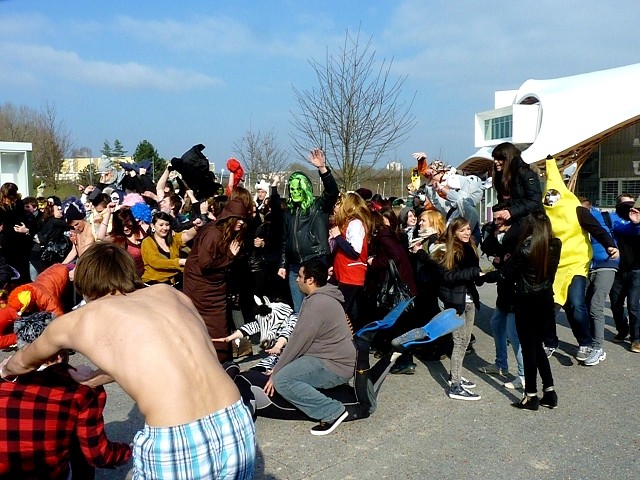
[[[317,389],[349,381],[356,348],[342,307],[344,297],[336,286],[327,284],[327,266],[322,260],[304,262],[297,281],[306,298],[264,391],[272,395],[275,389],[307,416],[320,420],[311,429],[312,435],[328,435],[349,413],[342,403]]]

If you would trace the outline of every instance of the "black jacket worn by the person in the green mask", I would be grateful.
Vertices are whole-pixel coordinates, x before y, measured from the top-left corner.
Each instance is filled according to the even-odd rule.
[[[284,212],[284,228],[280,250],[280,268],[287,265],[298,265],[315,257],[328,256],[329,249],[329,215],[338,200],[338,184],[331,171],[320,174],[324,185],[322,195],[317,197],[303,215],[300,208]]]

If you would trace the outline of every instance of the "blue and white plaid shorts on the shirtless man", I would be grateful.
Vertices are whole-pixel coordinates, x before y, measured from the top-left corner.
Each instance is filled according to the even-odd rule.
[[[133,440],[133,478],[253,478],[255,428],[242,400],[185,425],[145,425]]]

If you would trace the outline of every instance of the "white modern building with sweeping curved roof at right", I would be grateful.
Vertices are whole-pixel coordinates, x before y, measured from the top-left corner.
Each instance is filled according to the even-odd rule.
[[[552,155],[561,170],[571,167],[569,186],[595,205],[612,207],[622,192],[639,197],[639,89],[634,64],[496,92],[493,110],[475,115],[478,151],[460,169],[486,173],[493,147],[512,142],[529,164]]]

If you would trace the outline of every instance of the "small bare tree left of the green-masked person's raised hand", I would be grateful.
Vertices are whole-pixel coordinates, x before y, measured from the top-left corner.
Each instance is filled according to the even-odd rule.
[[[262,134],[250,128],[244,137],[234,144],[234,152],[246,167],[245,176],[250,181],[280,173],[289,163],[288,155],[278,144],[273,131]]]

